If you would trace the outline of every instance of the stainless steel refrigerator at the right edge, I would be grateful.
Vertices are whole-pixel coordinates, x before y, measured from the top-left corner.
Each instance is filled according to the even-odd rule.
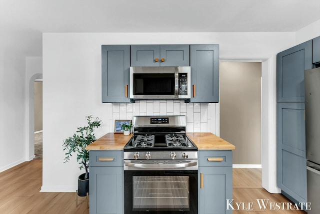
[[[304,71],[308,214],[320,213],[320,68]]]

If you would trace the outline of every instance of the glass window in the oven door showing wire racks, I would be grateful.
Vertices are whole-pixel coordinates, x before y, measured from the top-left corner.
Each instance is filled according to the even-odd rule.
[[[188,211],[189,176],[132,176],[133,211]]]

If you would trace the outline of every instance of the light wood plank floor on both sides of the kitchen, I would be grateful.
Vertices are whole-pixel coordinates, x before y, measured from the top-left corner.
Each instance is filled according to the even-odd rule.
[[[39,192],[42,183],[41,159],[24,162],[1,172],[0,183],[1,214],[89,213],[85,197],[77,197],[78,206],[76,206],[74,192]],[[233,199],[234,202],[255,203],[254,210],[233,210],[233,214],[306,213],[297,210],[260,210],[256,199],[270,199],[272,202],[288,201],[281,194],[270,194],[261,187],[260,169],[233,169]]]

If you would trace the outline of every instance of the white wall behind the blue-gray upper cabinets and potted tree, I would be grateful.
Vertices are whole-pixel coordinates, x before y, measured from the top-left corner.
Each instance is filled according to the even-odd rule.
[[[78,164],[75,160],[63,163],[61,144],[76,127],[85,124],[86,115],[102,120],[97,137],[112,130],[113,106],[101,103],[102,44],[219,44],[221,60],[263,60],[262,72],[268,79],[262,88],[263,84],[270,88],[265,93],[270,113],[267,118],[274,119],[275,55],[294,42],[294,33],[44,33],[41,191],[75,191],[76,177],[80,174]],[[218,104],[216,106],[218,109]],[[275,151],[275,123],[272,122],[267,123],[266,131],[271,136],[266,139],[266,147]],[[268,159],[275,160],[275,153],[270,153]],[[275,162],[271,161],[269,167],[270,171],[275,169]],[[274,173],[269,176],[275,180]],[[267,183],[266,189],[274,187],[275,182],[270,183],[272,186]]]

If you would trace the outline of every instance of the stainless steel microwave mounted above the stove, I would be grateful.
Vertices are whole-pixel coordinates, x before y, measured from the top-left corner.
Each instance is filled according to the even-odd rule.
[[[189,99],[190,67],[130,67],[130,99]]]

